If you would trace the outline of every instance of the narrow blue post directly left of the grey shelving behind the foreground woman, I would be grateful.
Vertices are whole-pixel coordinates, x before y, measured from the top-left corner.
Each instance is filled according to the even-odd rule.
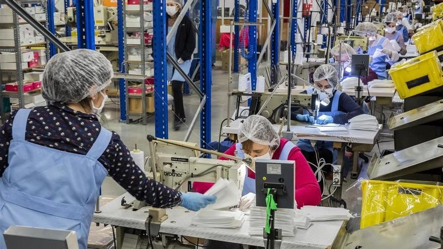
[[[125,72],[125,66],[122,65],[124,61],[124,30],[123,30],[123,0],[117,0],[117,20],[118,20],[118,70]],[[120,93],[120,121],[126,121],[126,89],[125,79],[118,79],[118,90]]]

